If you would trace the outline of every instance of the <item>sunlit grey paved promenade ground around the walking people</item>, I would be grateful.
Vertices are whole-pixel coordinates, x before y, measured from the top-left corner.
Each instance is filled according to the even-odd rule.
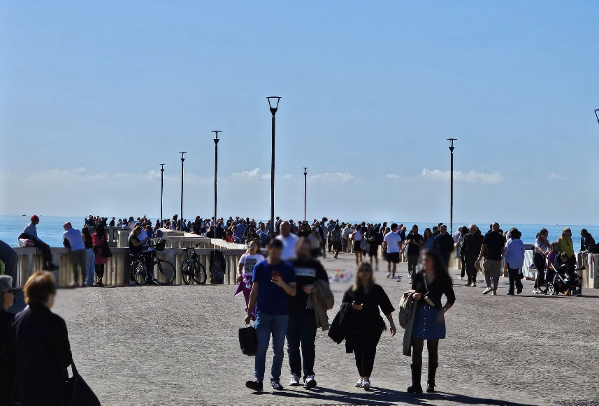
[[[324,265],[329,273],[355,272],[352,254],[327,256]],[[377,282],[397,307],[407,289],[405,264],[399,283],[381,265]],[[469,288],[453,273],[457,300],[440,343],[440,393],[421,396],[405,393],[410,358],[401,354],[401,328],[394,338],[382,335],[370,392],[353,387],[353,354],[319,331],[317,389],[287,385],[286,355],[286,390],[272,393],[265,380],[264,393],[252,393],[244,384],[254,358],[240,353],[237,338],[243,298],[233,298],[232,285],[61,289],[54,311],[66,319],[75,363],[103,405],[599,404],[591,402],[599,400],[599,291],[535,296],[525,282],[523,294],[510,297],[502,278],[498,296],[482,296],[482,275]],[[332,321],[349,283],[331,287]],[[269,351],[267,377],[270,360]],[[425,374],[426,366],[423,382]]]

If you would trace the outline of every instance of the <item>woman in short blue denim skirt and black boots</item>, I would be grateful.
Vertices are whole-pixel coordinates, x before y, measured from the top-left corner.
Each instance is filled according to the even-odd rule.
[[[441,257],[429,249],[421,255],[422,269],[412,282],[412,299],[416,300],[414,327],[412,328],[412,386],[408,393],[422,393],[420,376],[422,373],[422,350],[424,340],[428,349],[428,379],[426,391],[435,391],[435,375],[439,365],[439,340],[445,338],[445,313],[456,301],[452,277],[449,276]],[[447,302],[441,305],[441,296]]]

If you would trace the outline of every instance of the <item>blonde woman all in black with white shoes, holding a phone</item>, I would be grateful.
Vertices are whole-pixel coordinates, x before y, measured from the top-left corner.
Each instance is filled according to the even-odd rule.
[[[353,347],[356,356],[356,367],[360,375],[356,388],[368,391],[370,375],[373,372],[377,354],[377,344],[383,330],[387,330],[380,310],[389,321],[391,335],[395,335],[397,331],[391,315],[395,309],[391,305],[387,293],[380,285],[375,284],[373,267],[366,262],[361,263],[358,267],[354,286],[345,292],[343,303],[351,305],[351,334],[345,339]]]

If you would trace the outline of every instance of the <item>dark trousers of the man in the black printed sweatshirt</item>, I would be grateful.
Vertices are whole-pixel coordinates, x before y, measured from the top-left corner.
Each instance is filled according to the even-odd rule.
[[[301,313],[289,313],[287,356],[289,356],[291,373],[296,374],[298,377],[302,376],[302,372],[303,377],[314,375],[315,340],[316,319],[314,318],[314,311],[305,310]]]

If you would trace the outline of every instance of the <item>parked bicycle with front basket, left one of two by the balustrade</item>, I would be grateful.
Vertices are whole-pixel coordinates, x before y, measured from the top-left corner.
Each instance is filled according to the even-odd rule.
[[[166,240],[150,242],[150,258],[152,269],[147,269],[146,255],[131,255],[131,280],[136,284],[156,283],[161,285],[172,284],[175,280],[175,267],[165,259],[158,258],[157,252],[164,251]]]

